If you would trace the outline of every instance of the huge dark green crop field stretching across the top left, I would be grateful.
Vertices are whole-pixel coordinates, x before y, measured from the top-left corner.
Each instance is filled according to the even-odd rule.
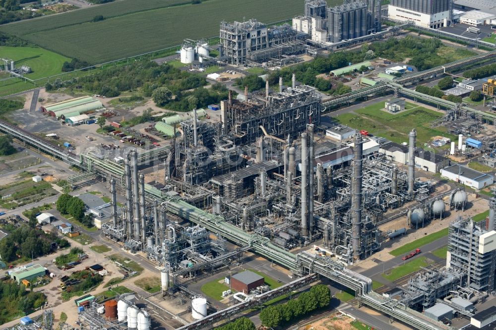
[[[302,0],[273,0],[270,4],[263,0],[207,0],[185,4],[190,2],[116,1],[56,17],[9,24],[1,27],[0,32],[69,57],[101,63],[178,45],[185,38],[218,35],[221,20],[241,21],[244,17],[253,17],[268,23],[304,11]],[[95,15],[106,19],[92,22]],[[129,42],[123,42],[124,36]]]

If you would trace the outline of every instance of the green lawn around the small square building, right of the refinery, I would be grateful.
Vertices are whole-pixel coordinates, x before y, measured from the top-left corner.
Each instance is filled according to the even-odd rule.
[[[445,127],[431,128],[430,122],[442,117],[442,113],[426,109],[416,104],[407,104],[406,110],[397,114],[388,113],[381,109],[384,102],[379,102],[359,110],[355,113],[343,113],[336,119],[345,125],[357,129],[365,129],[373,135],[378,135],[396,143],[408,142],[408,132],[417,130],[417,143],[427,143],[433,136],[442,135],[456,139],[454,135],[446,133]]]

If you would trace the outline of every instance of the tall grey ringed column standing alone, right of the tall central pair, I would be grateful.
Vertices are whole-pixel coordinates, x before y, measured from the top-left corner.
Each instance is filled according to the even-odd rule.
[[[362,157],[363,145],[362,136],[355,136],[355,150],[353,153],[352,183],[351,183],[351,222],[353,244],[353,258],[360,259],[361,244],[360,235],[362,232]]]

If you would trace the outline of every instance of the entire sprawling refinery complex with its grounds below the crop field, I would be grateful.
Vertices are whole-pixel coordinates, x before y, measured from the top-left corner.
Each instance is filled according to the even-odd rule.
[[[496,329],[496,3],[301,2],[10,96],[0,329]]]

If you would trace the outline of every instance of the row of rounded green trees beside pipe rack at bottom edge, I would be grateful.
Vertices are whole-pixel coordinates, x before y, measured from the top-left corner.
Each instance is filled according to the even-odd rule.
[[[269,328],[281,326],[296,320],[318,308],[325,308],[331,302],[331,292],[326,285],[318,284],[311,287],[310,291],[300,294],[298,299],[293,299],[285,304],[269,306],[260,312],[260,321]]]

